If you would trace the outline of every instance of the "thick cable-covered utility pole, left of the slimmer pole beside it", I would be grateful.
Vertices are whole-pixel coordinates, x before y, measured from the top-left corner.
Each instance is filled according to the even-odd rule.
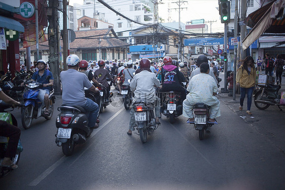
[[[59,53],[58,53],[58,0],[49,0],[48,7],[48,34],[49,34],[49,61],[50,70],[53,74],[54,84],[53,88],[56,94],[60,94],[60,82],[59,82]]]

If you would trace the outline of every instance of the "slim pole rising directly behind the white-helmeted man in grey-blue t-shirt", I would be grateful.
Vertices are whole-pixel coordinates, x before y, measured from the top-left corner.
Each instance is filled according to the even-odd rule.
[[[63,42],[63,70],[66,71],[67,65],[65,63],[65,60],[67,58],[67,49],[68,49],[68,36],[67,36],[67,0],[62,0],[63,8],[63,30],[62,30],[62,42]]]

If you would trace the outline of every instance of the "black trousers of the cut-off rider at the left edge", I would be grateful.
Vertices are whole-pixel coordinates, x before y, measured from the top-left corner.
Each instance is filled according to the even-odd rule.
[[[9,137],[5,157],[10,157],[10,158],[15,157],[18,147],[18,142],[21,135],[21,130],[17,128],[17,126],[9,124],[6,121],[0,120],[0,135],[4,137]],[[4,145],[3,143],[0,144]]]

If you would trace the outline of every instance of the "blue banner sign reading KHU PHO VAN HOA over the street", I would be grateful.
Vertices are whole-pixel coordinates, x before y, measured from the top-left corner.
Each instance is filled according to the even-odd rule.
[[[220,44],[224,44],[224,38],[194,38],[184,40],[185,46],[206,46]]]

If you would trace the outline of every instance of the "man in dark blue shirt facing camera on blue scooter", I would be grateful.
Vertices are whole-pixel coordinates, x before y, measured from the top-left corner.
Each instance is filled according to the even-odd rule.
[[[50,114],[50,100],[49,100],[49,94],[51,90],[51,86],[53,85],[53,76],[52,73],[49,70],[46,70],[46,61],[43,59],[40,59],[37,61],[37,65],[39,68],[39,71],[35,72],[32,77],[31,81],[37,81],[43,84],[43,88],[40,89],[38,94],[38,99],[41,100],[42,103],[45,104],[46,108],[44,110],[44,114],[48,115]],[[49,79],[47,77],[50,76]]]

